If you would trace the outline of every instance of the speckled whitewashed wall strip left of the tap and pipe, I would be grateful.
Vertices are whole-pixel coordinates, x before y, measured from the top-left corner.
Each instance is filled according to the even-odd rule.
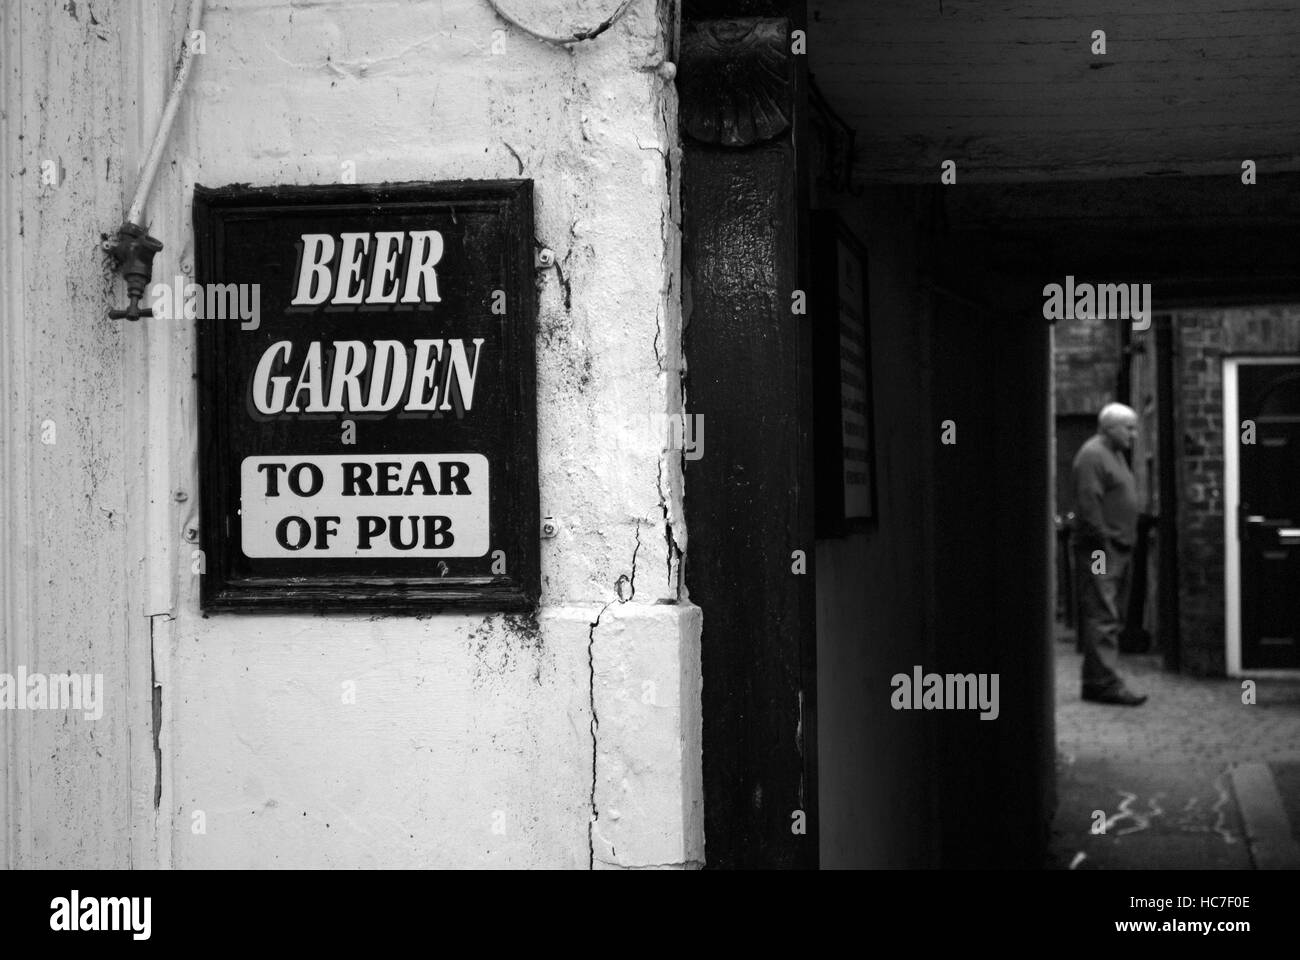
[[[126,414],[139,334],[103,319],[99,250],[124,209],[121,30],[34,1],[0,4],[0,673],[105,679],[99,721],[0,710],[4,860],[112,866],[133,856],[133,809],[148,812],[133,808],[147,758],[133,736],[150,734],[130,727],[150,697],[148,620],[127,587],[143,542]],[[57,186],[42,182],[47,161]]]

